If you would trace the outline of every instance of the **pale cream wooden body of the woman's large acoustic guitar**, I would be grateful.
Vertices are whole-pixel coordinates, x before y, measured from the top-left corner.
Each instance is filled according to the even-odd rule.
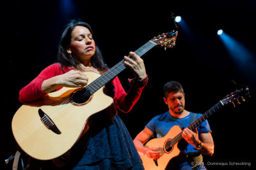
[[[85,73],[90,82],[100,76],[94,72]],[[113,98],[105,95],[103,87],[93,93],[88,102],[78,105],[70,102],[70,97],[77,89],[61,88],[33,104],[22,105],[15,113],[12,120],[13,135],[28,155],[39,160],[60,157],[72,148],[95,120],[111,120],[115,117]],[[43,123],[40,109],[56,125],[56,132]]]

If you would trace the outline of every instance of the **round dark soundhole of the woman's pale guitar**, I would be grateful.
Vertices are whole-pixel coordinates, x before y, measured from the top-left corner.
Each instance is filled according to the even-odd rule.
[[[92,100],[92,95],[90,91],[86,88],[77,89],[72,95],[72,104],[74,105],[84,105]]]

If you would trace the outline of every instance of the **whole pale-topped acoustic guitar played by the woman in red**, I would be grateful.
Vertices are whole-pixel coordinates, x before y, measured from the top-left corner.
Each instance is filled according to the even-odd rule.
[[[155,46],[173,47],[177,34],[176,29],[163,33],[135,52],[143,56]],[[32,104],[22,105],[12,120],[12,132],[20,148],[38,160],[60,157],[95,121],[115,117],[113,98],[103,88],[124,69],[123,59],[102,75],[85,72],[89,82],[84,88],[63,87]]]

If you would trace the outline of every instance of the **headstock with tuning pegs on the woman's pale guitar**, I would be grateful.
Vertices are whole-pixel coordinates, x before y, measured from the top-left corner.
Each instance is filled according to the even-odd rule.
[[[172,48],[175,46],[177,35],[178,31],[173,29],[170,33],[163,33],[162,35],[152,38],[151,41],[157,45],[164,46],[164,49],[166,49],[166,47]]]

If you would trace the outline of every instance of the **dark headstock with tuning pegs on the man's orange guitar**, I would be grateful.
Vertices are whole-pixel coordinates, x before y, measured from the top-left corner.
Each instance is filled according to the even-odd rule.
[[[223,100],[221,100],[221,102],[223,105],[232,104],[234,107],[236,107],[235,103],[241,104],[240,101],[242,100],[243,102],[245,102],[248,97],[250,97],[250,89],[248,88],[248,86],[244,86],[241,89],[237,89],[230,95],[227,95],[225,98],[223,98]]]

